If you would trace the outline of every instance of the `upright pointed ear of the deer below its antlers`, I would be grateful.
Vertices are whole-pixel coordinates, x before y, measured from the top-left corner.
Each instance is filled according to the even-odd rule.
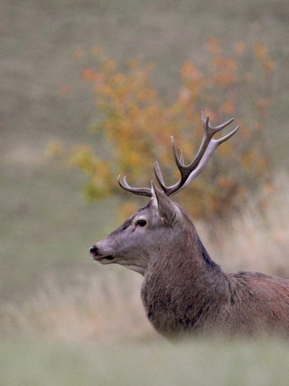
[[[172,227],[178,221],[179,209],[163,191],[156,187],[154,181],[151,181],[151,192],[159,217],[165,225]]]

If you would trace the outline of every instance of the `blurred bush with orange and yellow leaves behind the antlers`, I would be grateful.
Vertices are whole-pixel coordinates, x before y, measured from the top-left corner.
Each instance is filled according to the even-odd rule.
[[[260,204],[265,203],[271,168],[262,133],[272,104],[274,62],[261,41],[255,41],[253,50],[237,42],[226,56],[218,40],[210,39],[202,68],[187,60],[180,70],[179,88],[170,98],[160,96],[151,85],[152,63],[131,59],[120,68],[98,47],[93,57],[95,64],[83,68],[82,78],[95,94],[98,119],[90,130],[101,148],[95,154],[93,145],[70,150],[58,143],[50,146],[51,154],[88,176],[86,199],[122,194],[129,203],[122,207],[126,217],[136,204],[119,188],[117,175],[127,175],[132,186],[150,186],[155,160],[167,184],[176,182],[179,175],[169,137],[174,136],[189,163],[202,141],[204,110],[216,125],[233,115],[242,117],[237,120],[241,130],[219,147],[202,176],[183,190],[181,204],[195,218],[214,221],[227,218],[256,190],[262,193]]]

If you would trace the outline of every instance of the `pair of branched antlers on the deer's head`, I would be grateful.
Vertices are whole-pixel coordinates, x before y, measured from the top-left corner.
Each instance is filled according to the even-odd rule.
[[[193,179],[195,179],[197,175],[201,173],[201,171],[204,169],[209,159],[212,157],[214,151],[217,149],[217,147],[221,145],[221,143],[231,138],[236,133],[236,131],[239,129],[240,126],[237,126],[229,134],[219,139],[213,139],[214,134],[222,130],[224,127],[228,126],[233,121],[234,121],[234,118],[230,119],[229,121],[223,123],[220,126],[211,127],[209,123],[209,116],[207,116],[207,118],[205,119],[204,113],[202,112],[202,122],[203,122],[203,130],[204,130],[203,140],[196,157],[189,165],[186,165],[186,166],[184,165],[183,154],[181,149],[178,148],[178,151],[179,151],[179,156],[178,156],[175,148],[175,144],[174,144],[174,139],[173,137],[171,137],[175,163],[181,175],[180,180],[174,185],[166,186],[157,161],[155,161],[153,164],[156,179],[167,196],[176,194],[178,191],[180,191],[185,186],[187,186]],[[122,183],[119,176],[118,182],[123,189],[131,191],[135,195],[152,197],[151,189],[146,187],[140,187],[140,188],[131,187],[127,183],[126,177],[124,177],[124,183]]]

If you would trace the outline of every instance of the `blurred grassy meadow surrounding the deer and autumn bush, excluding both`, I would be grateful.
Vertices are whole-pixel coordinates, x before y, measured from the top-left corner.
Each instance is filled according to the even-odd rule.
[[[205,220],[194,223],[225,271],[289,279],[286,2],[4,0],[2,10],[0,385],[287,385],[289,342],[171,343],[157,335],[140,301],[142,277],[89,257],[89,247],[119,225],[121,198],[85,202],[86,176],[47,155],[55,140],[101,152],[87,130],[98,119],[93,95],[81,81],[94,45],[120,65],[153,61],[155,86],[169,95],[183,61],[201,63],[210,37],[228,50],[262,38],[276,62],[264,129],[274,189],[265,206],[252,197],[216,224],[217,239]]]

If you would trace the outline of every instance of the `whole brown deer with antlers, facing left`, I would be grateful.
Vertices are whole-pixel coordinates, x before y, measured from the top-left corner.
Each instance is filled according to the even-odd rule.
[[[150,198],[119,228],[90,248],[101,264],[120,264],[143,275],[141,299],[146,316],[161,335],[186,333],[258,336],[289,335],[289,280],[259,272],[226,273],[209,256],[195,226],[180,205],[171,201],[204,169],[219,145],[239,129],[219,139],[213,136],[234,119],[211,127],[202,112],[203,140],[194,160],[185,165],[180,148],[172,149],[180,172],[166,186],[160,167],[153,164],[151,187],[119,185]]]

